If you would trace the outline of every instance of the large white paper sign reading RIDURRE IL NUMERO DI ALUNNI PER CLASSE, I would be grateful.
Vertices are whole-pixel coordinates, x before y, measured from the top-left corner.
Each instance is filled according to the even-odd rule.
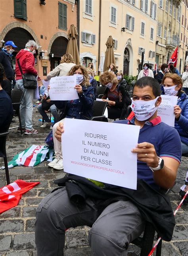
[[[65,172],[136,190],[140,126],[66,118],[64,130]]]

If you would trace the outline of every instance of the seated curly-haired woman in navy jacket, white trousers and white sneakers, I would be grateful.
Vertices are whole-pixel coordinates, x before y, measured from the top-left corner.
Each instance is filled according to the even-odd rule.
[[[55,137],[55,132],[59,123],[63,123],[65,117],[75,119],[89,119],[92,117],[92,106],[94,102],[94,88],[90,86],[89,76],[86,68],[84,68],[82,65],[75,65],[69,71],[68,76],[77,76],[77,84],[74,88],[77,90],[79,99],[68,101],[53,101],[56,107],[60,110],[60,121],[57,122],[53,127],[55,158],[48,164],[48,166],[53,167],[56,170],[63,169],[61,142],[59,142]]]

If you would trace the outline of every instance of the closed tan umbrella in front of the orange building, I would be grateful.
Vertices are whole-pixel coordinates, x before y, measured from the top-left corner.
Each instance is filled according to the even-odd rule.
[[[69,53],[73,56],[74,62],[76,64],[80,63],[80,56],[79,56],[79,51],[78,51],[78,46],[77,46],[77,31],[75,29],[74,25],[71,25],[68,33],[68,45],[67,45],[67,51],[66,53]]]

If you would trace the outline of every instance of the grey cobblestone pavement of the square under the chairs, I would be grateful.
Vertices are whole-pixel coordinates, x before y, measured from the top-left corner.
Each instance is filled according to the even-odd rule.
[[[50,131],[49,128],[40,128],[41,122],[38,121],[39,114],[36,113],[36,107],[33,111],[34,128],[39,133],[35,135],[23,135],[17,133],[16,129],[10,131],[7,138],[7,155],[11,160],[15,154],[28,148],[31,145],[43,145],[44,138]],[[15,123],[18,123],[15,117]],[[36,256],[35,247],[35,210],[43,197],[52,191],[55,187],[52,180],[63,177],[62,171],[55,171],[47,166],[48,162],[42,162],[36,167],[18,166],[10,169],[10,180],[17,179],[25,181],[40,181],[40,184],[29,192],[25,193],[19,204],[0,215],[0,255],[9,256]],[[4,165],[0,158],[0,166]],[[178,170],[176,186],[174,192],[170,193],[170,199],[173,210],[180,202],[178,194],[179,188],[184,184],[185,173],[188,168],[188,159],[182,158],[182,163]],[[0,170],[0,187],[6,185],[5,170]],[[89,256],[90,248],[88,246],[88,227],[79,227],[69,229],[66,232],[65,256]],[[129,256],[139,255],[139,248],[130,244],[128,250]],[[188,206],[182,205],[176,214],[176,226],[171,242],[164,242],[162,246],[163,256],[188,255]]]

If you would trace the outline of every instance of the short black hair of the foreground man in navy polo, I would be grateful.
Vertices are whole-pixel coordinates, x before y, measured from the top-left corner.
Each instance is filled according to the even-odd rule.
[[[138,88],[144,88],[146,86],[152,87],[153,95],[155,97],[161,96],[161,88],[159,82],[150,76],[145,76],[136,81],[134,84],[134,87],[137,86]],[[133,92],[134,92],[134,87],[133,87]]]

